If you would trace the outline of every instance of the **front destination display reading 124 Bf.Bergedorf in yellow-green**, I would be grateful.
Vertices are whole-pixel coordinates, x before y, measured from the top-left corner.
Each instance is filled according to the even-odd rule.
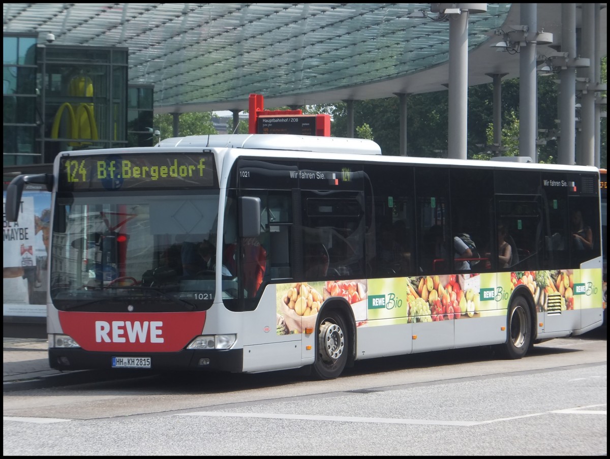
[[[213,153],[91,154],[60,159],[59,190],[218,187]]]

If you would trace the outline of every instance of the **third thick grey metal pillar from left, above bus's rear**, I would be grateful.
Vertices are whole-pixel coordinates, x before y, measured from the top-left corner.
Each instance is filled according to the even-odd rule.
[[[569,60],[576,56],[576,4],[561,4],[561,51],[567,52]],[[575,164],[576,137],[576,71],[574,67],[562,66],[559,71],[559,164]]]

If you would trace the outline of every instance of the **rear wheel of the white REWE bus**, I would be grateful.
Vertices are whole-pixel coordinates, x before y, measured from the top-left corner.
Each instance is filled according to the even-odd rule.
[[[512,298],[506,318],[506,335],[501,349],[508,359],[522,358],[533,343],[531,309],[522,295]]]

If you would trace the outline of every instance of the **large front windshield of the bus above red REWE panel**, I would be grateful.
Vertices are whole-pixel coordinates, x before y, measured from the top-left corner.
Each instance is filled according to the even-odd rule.
[[[209,308],[218,200],[218,190],[58,195],[51,301],[60,310]]]

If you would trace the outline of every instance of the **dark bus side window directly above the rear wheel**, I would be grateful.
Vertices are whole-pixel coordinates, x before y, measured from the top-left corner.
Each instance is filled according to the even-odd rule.
[[[498,195],[497,222],[511,236],[511,270],[536,270],[542,248],[542,212],[540,197]]]

